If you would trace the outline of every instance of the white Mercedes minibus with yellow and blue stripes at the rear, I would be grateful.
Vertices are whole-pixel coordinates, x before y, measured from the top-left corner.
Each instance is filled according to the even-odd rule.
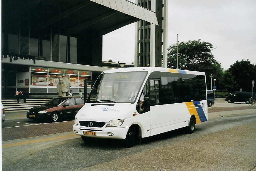
[[[160,67],[103,71],[73,130],[87,137],[124,139],[127,147],[141,138],[208,120],[204,72]]]

